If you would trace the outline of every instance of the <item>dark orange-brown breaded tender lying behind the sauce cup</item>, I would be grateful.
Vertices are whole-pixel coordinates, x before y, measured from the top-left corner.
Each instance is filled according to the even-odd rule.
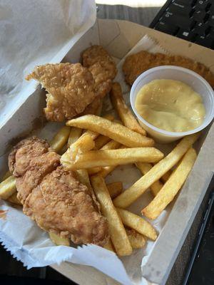
[[[214,75],[202,63],[183,56],[168,56],[163,53],[148,53],[148,51],[140,51],[127,56],[123,63],[123,73],[126,82],[132,85],[141,73],[156,66],[181,66],[188,68],[205,78],[210,83],[210,86],[214,87]]]

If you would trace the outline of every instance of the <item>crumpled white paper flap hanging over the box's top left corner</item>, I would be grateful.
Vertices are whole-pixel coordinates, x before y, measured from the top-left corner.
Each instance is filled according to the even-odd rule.
[[[96,21],[93,0],[0,0],[0,128],[38,86],[34,66],[59,63]]]

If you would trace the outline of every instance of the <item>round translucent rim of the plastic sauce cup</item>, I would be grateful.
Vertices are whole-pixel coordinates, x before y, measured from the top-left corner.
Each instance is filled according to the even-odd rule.
[[[183,73],[188,73],[191,76],[195,77],[197,80],[202,81],[203,84],[205,85],[205,88],[208,89],[208,92],[210,94],[212,94],[210,96],[210,100],[211,100],[210,114],[209,114],[208,118],[205,118],[202,125],[200,125],[198,128],[195,128],[193,130],[188,130],[185,132],[170,132],[168,130],[162,130],[161,128],[157,128],[156,126],[151,125],[151,123],[148,123],[140,114],[138,114],[138,111],[136,110],[135,102],[134,102],[134,95],[135,95],[136,86],[142,80],[143,77],[147,76],[149,73],[160,71],[160,69],[162,69],[162,70],[173,69],[175,71],[183,71]],[[147,71],[144,71],[143,73],[141,73],[141,75],[138,76],[138,78],[136,78],[136,80],[134,81],[133,86],[131,86],[130,102],[131,102],[131,108],[132,108],[133,112],[136,114],[136,117],[138,118],[138,120],[141,120],[142,123],[145,124],[148,128],[151,128],[152,130],[155,130],[156,132],[161,133],[162,135],[170,136],[170,137],[174,137],[174,138],[183,137],[185,135],[191,135],[193,133],[198,133],[198,132],[200,132],[200,130],[203,130],[204,128],[206,128],[214,118],[214,91],[213,91],[213,88],[210,86],[208,81],[206,81],[205,78],[200,76],[198,73],[195,73],[194,71],[190,71],[190,69],[188,69],[188,68],[183,68],[180,66],[157,66],[154,68],[150,68]]]

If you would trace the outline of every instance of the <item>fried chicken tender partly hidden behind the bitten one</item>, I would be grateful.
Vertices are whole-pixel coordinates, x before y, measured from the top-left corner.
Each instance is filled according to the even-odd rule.
[[[82,61],[83,66],[92,73],[96,98],[81,115],[94,114],[101,104],[101,99],[111,90],[113,78],[117,73],[116,64],[102,46],[87,48],[82,54]]]

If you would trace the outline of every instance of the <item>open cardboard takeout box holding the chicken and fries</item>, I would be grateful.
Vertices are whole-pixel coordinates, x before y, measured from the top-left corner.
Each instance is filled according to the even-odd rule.
[[[101,44],[113,58],[119,61],[146,34],[171,54],[200,61],[214,73],[214,51],[128,21],[98,20],[95,26],[73,46],[63,61],[78,62],[80,51],[91,44]],[[0,156],[9,150],[13,138],[20,137],[34,127],[35,120],[42,115],[44,105],[44,91],[39,88],[1,128]],[[210,125],[198,142],[197,147],[200,152],[193,170],[176,199],[147,260],[141,264],[140,275],[148,281],[148,284],[165,284],[195,214],[198,212],[214,168],[213,138],[214,126]],[[0,171],[3,171],[6,167],[6,157],[3,157],[0,162]],[[90,266],[64,262],[53,267],[78,284],[118,284]],[[136,284],[144,284],[141,283],[143,282],[141,278],[138,280]]]

